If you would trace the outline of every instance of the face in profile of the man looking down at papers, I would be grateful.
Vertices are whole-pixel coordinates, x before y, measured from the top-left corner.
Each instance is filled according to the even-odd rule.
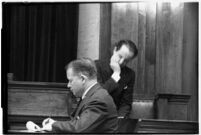
[[[78,74],[75,74],[72,68],[69,68],[66,72],[68,82],[68,87],[73,92],[76,97],[81,97],[84,91],[83,78]]]

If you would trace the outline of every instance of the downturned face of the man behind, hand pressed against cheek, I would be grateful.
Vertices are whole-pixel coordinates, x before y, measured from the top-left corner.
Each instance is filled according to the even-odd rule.
[[[126,45],[122,45],[119,50],[116,50],[116,47],[114,48],[111,61],[115,61],[123,67],[132,59],[133,55],[133,52],[131,52]]]

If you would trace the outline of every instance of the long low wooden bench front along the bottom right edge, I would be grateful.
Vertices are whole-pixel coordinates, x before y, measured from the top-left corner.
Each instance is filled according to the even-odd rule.
[[[136,133],[197,134],[198,123],[184,120],[139,119]]]

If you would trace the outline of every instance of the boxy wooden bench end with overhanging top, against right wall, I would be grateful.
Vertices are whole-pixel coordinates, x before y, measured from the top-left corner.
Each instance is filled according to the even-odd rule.
[[[163,94],[156,96],[156,113],[158,119],[188,120],[190,95]]]

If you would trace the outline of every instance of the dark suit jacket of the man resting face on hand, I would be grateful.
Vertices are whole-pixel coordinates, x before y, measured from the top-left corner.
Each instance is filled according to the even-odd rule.
[[[98,82],[103,88],[108,90],[113,97],[117,106],[119,116],[128,116],[131,110],[133,98],[133,86],[135,81],[135,72],[128,67],[121,68],[121,79],[116,83],[111,75],[113,70],[106,61],[96,60],[96,67],[98,71]]]

